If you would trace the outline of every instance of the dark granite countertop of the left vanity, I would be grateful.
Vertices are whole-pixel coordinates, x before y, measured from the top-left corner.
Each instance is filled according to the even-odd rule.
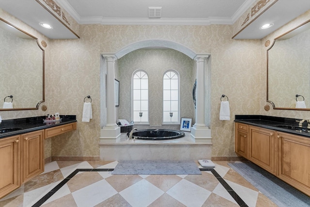
[[[0,139],[18,134],[29,133],[51,127],[61,126],[63,124],[77,122],[76,115],[60,115],[60,118],[62,119],[61,121],[55,120],[53,122],[47,122],[47,123],[43,122],[45,116],[2,120],[2,122],[0,123],[0,130],[4,128],[21,128],[21,129],[12,132],[0,133]]]

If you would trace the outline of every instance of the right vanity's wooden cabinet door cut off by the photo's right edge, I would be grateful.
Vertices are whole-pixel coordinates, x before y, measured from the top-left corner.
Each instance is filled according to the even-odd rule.
[[[310,196],[310,139],[278,132],[278,177]]]

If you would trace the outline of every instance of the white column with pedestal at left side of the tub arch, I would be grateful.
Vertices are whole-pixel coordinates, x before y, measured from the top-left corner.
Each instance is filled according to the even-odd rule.
[[[115,118],[115,56],[103,56],[107,64],[107,124],[101,130],[100,143],[116,142],[121,135],[121,129],[116,124]]]

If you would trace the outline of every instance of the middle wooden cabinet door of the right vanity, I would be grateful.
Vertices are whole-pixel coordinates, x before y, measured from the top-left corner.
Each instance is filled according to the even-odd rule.
[[[249,128],[249,160],[276,175],[275,131]]]

